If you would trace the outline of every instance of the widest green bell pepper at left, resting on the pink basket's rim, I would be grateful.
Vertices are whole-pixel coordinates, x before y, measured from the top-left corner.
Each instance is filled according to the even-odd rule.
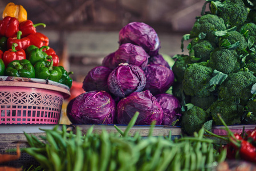
[[[21,76],[26,78],[35,78],[35,70],[27,59],[13,60],[6,67],[7,76]]]

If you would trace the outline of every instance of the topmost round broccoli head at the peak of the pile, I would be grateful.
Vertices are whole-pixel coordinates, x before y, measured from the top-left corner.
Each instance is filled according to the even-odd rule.
[[[219,7],[218,16],[230,27],[240,27],[247,19],[248,10],[242,0],[225,0]]]

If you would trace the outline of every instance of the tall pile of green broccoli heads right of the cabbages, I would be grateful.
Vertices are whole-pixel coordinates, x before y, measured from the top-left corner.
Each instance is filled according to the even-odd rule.
[[[209,5],[209,11],[206,6]],[[249,15],[250,14],[250,15]],[[255,4],[242,0],[206,1],[189,34],[188,55],[177,54],[173,95],[181,102],[181,127],[189,135],[213,125],[255,124]]]

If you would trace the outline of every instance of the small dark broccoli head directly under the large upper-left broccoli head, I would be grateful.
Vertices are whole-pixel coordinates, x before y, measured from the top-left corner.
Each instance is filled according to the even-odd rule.
[[[192,40],[190,43],[191,47],[189,48],[189,55],[194,58],[198,58],[198,62],[207,61],[210,58],[210,52],[215,48],[212,43],[208,40]]]

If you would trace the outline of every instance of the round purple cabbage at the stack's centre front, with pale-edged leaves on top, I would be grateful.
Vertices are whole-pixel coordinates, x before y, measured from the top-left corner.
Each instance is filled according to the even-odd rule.
[[[108,89],[117,97],[142,91],[146,84],[144,71],[139,66],[121,63],[108,76]]]

